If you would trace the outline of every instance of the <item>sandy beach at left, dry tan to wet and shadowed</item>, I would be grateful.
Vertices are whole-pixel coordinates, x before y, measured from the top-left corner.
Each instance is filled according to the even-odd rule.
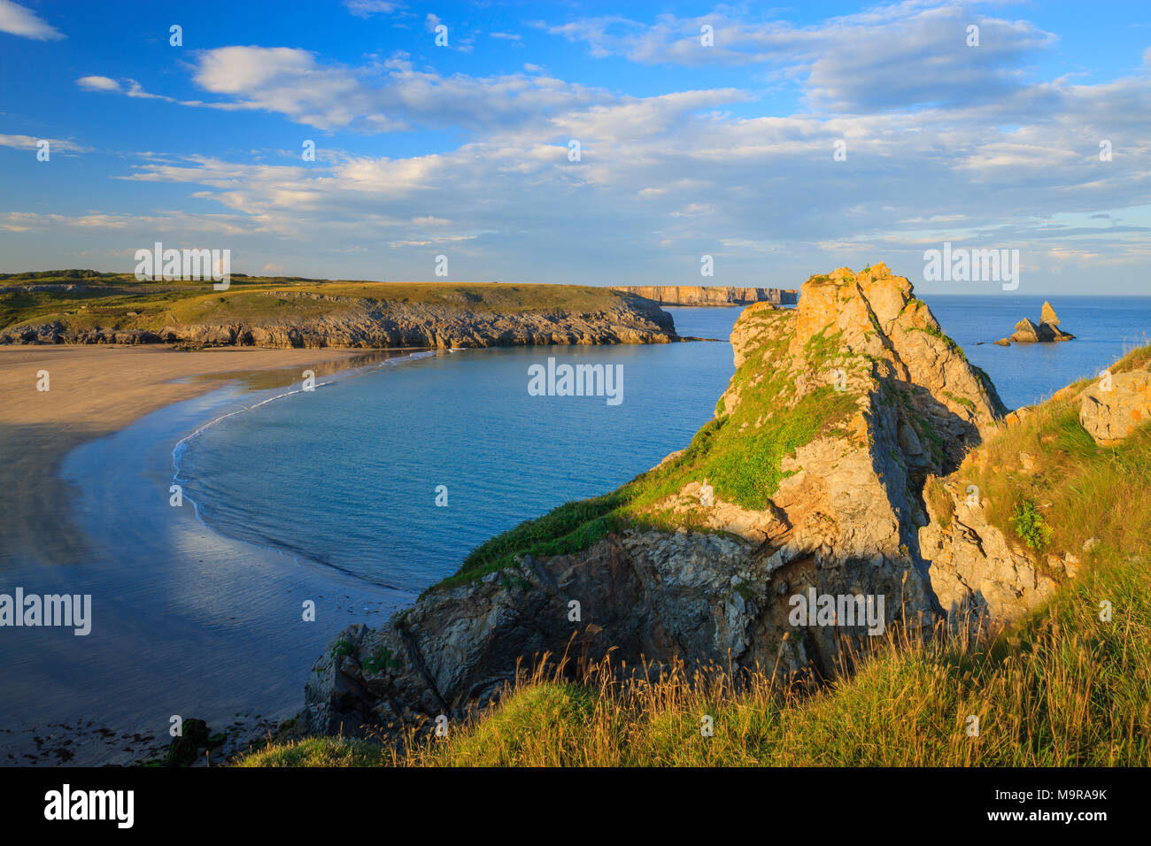
[[[413,599],[223,538],[168,501],[189,432],[284,394],[304,369],[322,387],[379,357],[0,349],[0,592],[92,597],[90,635],[0,628],[0,765],[130,763],[166,746],[174,715],[234,746],[302,707],[341,628]]]

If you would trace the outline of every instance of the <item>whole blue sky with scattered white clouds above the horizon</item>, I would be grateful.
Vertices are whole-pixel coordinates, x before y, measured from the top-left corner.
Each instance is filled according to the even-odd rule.
[[[1149,234],[1143,0],[0,0],[5,273],[1151,295]]]

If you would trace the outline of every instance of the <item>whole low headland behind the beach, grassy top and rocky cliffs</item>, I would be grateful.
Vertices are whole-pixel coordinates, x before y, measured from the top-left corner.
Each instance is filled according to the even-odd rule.
[[[670,314],[579,285],[341,283],[245,277],[206,285],[41,283],[0,289],[0,343],[279,348],[666,343]]]

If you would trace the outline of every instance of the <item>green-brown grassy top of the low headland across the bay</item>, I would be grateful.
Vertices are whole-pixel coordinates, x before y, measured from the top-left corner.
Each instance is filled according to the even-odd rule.
[[[14,290],[24,287],[33,290]],[[275,297],[276,291],[296,296]],[[626,300],[627,296],[618,291],[588,285],[363,282],[233,275],[228,290],[215,291],[209,280],[138,282],[132,274],[49,270],[0,274],[0,330],[52,321],[81,330],[113,327],[151,331],[173,322],[297,323],[365,304],[500,314],[557,308],[593,313],[618,307]]]

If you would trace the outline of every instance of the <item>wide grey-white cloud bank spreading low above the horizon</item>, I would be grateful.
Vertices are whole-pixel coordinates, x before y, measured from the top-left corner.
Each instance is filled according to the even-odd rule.
[[[435,77],[433,87],[447,82]],[[460,84],[498,102],[508,81]],[[333,150],[307,168],[192,158],[143,163],[129,178],[198,185],[193,196],[221,204],[247,235],[284,238],[288,251],[310,242],[302,256],[387,249],[413,277],[430,273],[420,269],[420,251],[436,246],[457,258],[467,250],[478,277],[579,281],[572,231],[580,251],[594,250],[604,283],[635,281],[638,256],[666,279],[676,267],[698,273],[699,256],[711,252],[724,257],[732,284],[793,283],[786,274],[853,257],[914,275],[924,245],[944,239],[1020,247],[1039,265],[1055,254],[1052,243],[1121,264],[1148,235],[1122,211],[1145,205],[1151,191],[1151,173],[1139,166],[1151,155],[1144,78],[1027,86],[1011,131],[999,129],[1003,104],[734,117],[716,110],[747,100],[734,89],[588,101],[570,97],[566,83],[556,91],[566,99],[550,112],[477,122],[471,140],[444,153]],[[418,114],[407,108],[406,116]],[[1097,150],[1083,136],[1096,124],[1111,130],[1113,162],[1092,161]],[[582,143],[580,162],[567,160],[570,137]],[[832,159],[840,138],[849,139],[846,162]],[[1061,209],[1111,209],[1126,226],[1053,221],[1054,196]],[[769,253],[773,276],[765,279],[757,261]],[[294,273],[321,273],[290,264]],[[371,267],[358,274],[372,277]]]

